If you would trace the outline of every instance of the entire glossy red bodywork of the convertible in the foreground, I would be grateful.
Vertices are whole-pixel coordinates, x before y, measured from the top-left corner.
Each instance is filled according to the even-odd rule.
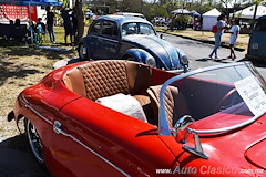
[[[234,132],[202,135],[202,145],[209,157],[203,159],[182,149],[182,144],[174,136],[158,135],[157,126],[68,90],[62,76],[78,65],[80,63],[53,71],[39,84],[24,90],[13,110],[17,121],[19,115],[30,117],[39,131],[51,175],[124,176],[99,155],[130,176],[162,176],[157,169],[170,169],[171,173],[175,171],[175,176],[254,176],[246,169],[265,169],[265,158],[259,157],[265,157],[266,153],[266,115]],[[162,84],[175,75],[152,70],[153,85]],[[178,86],[182,87],[182,84],[181,81]],[[241,105],[232,108],[238,108],[239,114],[233,115],[229,110],[219,112],[196,121],[194,126],[197,129],[215,129],[232,126],[252,116]],[[234,118],[237,121],[232,121],[231,116],[237,117]],[[217,124],[217,119],[221,124]],[[62,123],[61,128],[72,136],[55,134],[55,121]],[[191,136],[187,145],[194,145]]]

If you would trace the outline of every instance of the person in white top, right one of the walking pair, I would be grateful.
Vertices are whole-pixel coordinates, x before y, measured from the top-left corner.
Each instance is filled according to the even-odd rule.
[[[237,37],[239,34],[241,27],[239,27],[239,20],[233,20],[233,27],[229,30],[231,38],[229,38],[229,46],[231,46],[231,54],[227,59],[235,60],[235,51],[234,51],[234,45],[237,40]]]

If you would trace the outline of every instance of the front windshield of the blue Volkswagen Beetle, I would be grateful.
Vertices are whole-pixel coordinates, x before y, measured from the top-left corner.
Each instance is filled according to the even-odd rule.
[[[153,27],[147,23],[130,22],[122,25],[122,35],[130,34],[155,35],[155,31]]]

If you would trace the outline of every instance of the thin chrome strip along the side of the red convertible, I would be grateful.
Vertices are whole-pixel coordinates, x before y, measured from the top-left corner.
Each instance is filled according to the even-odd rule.
[[[28,103],[25,103],[25,101],[22,97],[19,97],[19,100],[24,104],[25,108],[30,108],[33,113],[35,113],[38,116],[40,116],[43,121],[45,121],[47,123],[53,125],[53,123],[51,121],[49,121],[48,118],[45,118],[43,115],[41,115],[38,111],[35,111],[33,107],[31,107]],[[94,152],[93,149],[91,149],[89,146],[86,146],[85,144],[83,144],[82,142],[80,142],[78,138],[75,138],[73,135],[71,134],[63,134],[64,136],[68,136],[70,138],[72,138],[74,142],[79,143],[81,146],[83,146],[85,149],[90,150],[92,154],[94,154],[95,156],[98,156],[99,158],[101,158],[102,160],[104,160],[105,163],[108,163],[110,166],[112,166],[113,168],[115,168],[116,170],[119,170],[121,174],[123,174],[126,177],[130,177],[129,174],[126,174],[125,171],[123,171],[121,168],[119,168],[117,166],[115,166],[114,164],[112,164],[110,160],[108,160],[106,158],[104,158],[103,156],[101,156],[100,154],[98,154],[96,152]]]

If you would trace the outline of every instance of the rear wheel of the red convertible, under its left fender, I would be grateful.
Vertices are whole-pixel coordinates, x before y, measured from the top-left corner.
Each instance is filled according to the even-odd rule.
[[[35,157],[39,165],[44,166],[44,158],[43,158],[43,148],[40,136],[37,132],[35,126],[27,118],[24,118],[24,126],[25,126],[25,136],[29,140],[29,145],[33,156]]]

